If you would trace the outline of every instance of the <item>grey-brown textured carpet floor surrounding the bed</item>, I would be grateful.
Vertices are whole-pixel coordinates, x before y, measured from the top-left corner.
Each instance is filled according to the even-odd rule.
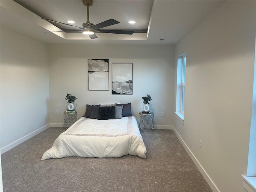
[[[41,160],[62,128],[2,154],[4,192],[212,192],[172,130],[142,132],[147,158]]]

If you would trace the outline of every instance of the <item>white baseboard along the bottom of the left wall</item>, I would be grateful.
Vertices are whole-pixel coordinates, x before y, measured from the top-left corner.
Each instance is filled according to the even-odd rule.
[[[18,139],[16,141],[12,142],[11,144],[8,144],[7,146],[1,148],[1,154],[3,154],[6,151],[16,147],[17,145],[21,144],[22,142],[24,142],[24,141],[34,137],[35,135],[37,135],[38,133],[48,129],[49,127],[50,127],[50,124],[47,124],[47,125],[39,128],[38,130],[35,130],[32,133],[30,133],[30,134],[28,134],[28,135],[26,135],[26,136],[24,136],[24,137],[22,137],[22,138],[20,138],[20,139]]]

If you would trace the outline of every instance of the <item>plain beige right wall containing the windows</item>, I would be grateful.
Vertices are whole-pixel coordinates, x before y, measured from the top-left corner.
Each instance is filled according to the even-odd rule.
[[[174,128],[220,191],[241,192],[252,112],[255,1],[226,1],[181,40],[184,125]],[[202,140],[202,149],[199,147]]]

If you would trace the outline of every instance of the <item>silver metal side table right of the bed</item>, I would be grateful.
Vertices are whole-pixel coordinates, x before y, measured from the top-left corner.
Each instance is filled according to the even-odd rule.
[[[154,113],[139,112],[139,128],[140,132],[154,131]]]

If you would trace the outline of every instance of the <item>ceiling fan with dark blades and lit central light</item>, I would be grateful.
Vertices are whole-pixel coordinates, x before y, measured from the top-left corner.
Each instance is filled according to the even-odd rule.
[[[74,25],[70,25],[70,24],[66,24],[66,23],[62,23],[62,22],[42,18],[46,21],[56,22],[56,23],[60,23],[60,24],[68,25],[68,26],[73,26],[73,27],[77,28],[77,30],[48,31],[48,33],[49,32],[50,33],[52,33],[52,32],[83,33],[83,34],[88,34],[91,39],[98,38],[95,33],[113,33],[113,34],[126,34],[126,35],[132,35],[134,33],[134,31],[126,31],[126,30],[105,30],[105,29],[101,29],[101,28],[104,28],[104,27],[107,27],[107,26],[111,26],[111,25],[120,23],[120,22],[118,22],[114,19],[109,19],[109,20],[106,20],[104,22],[101,22],[99,24],[94,25],[93,23],[91,23],[89,21],[89,6],[92,6],[93,0],[82,0],[82,2],[83,2],[84,6],[87,6],[87,22],[83,23],[83,27],[78,27],[78,26],[74,26]]]

